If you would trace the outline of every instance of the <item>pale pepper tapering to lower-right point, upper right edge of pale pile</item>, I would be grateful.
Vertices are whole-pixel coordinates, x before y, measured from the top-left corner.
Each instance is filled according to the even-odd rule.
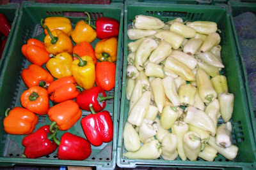
[[[212,52],[204,52],[196,54],[196,57],[210,66],[224,68],[225,66]]]

